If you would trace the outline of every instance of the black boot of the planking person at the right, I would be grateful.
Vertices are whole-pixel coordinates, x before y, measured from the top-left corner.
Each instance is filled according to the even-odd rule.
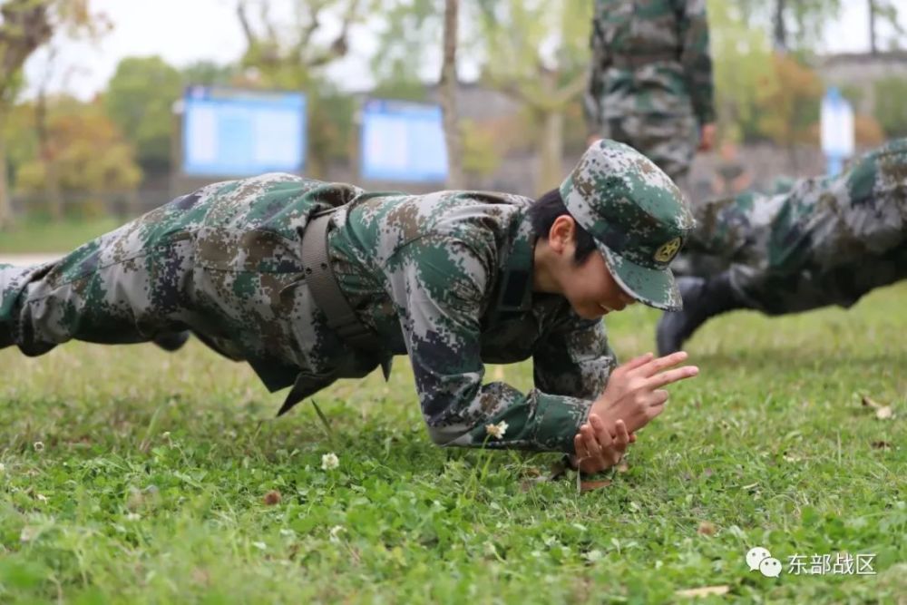
[[[683,310],[665,313],[658,321],[658,355],[679,351],[709,317],[750,307],[734,293],[727,271],[711,278],[678,278],[677,282],[683,298]]]

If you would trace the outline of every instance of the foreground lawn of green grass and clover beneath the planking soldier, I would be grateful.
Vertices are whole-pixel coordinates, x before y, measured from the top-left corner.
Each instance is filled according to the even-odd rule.
[[[715,602],[907,602],[905,300],[711,322],[689,346],[701,376],[589,493],[532,481],[554,454],[431,444],[405,359],[387,385],[317,396],[328,438],[311,405],[274,419],[280,395],[198,343],[5,350],[0,602],[646,603],[713,585]],[[622,356],[656,317],[609,317]],[[530,384],[528,365],[503,373]],[[754,546],[780,578],[747,570]],[[786,573],[839,552],[875,554],[877,575]]]

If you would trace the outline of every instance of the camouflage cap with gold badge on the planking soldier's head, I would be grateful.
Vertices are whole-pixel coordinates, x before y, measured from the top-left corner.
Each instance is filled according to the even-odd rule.
[[[667,174],[628,145],[596,141],[561,183],[561,198],[621,288],[649,307],[683,307],[669,265],[695,220]]]

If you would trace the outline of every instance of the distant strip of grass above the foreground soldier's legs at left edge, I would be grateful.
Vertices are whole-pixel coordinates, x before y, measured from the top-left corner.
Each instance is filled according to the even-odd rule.
[[[120,226],[112,218],[23,220],[9,229],[0,229],[0,254],[68,252],[86,241]]]

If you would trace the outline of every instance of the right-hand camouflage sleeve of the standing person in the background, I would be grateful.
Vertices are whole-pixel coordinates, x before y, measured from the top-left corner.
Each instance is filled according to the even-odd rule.
[[[687,78],[699,125],[715,122],[712,57],[708,49],[706,0],[680,0],[680,63]]]

